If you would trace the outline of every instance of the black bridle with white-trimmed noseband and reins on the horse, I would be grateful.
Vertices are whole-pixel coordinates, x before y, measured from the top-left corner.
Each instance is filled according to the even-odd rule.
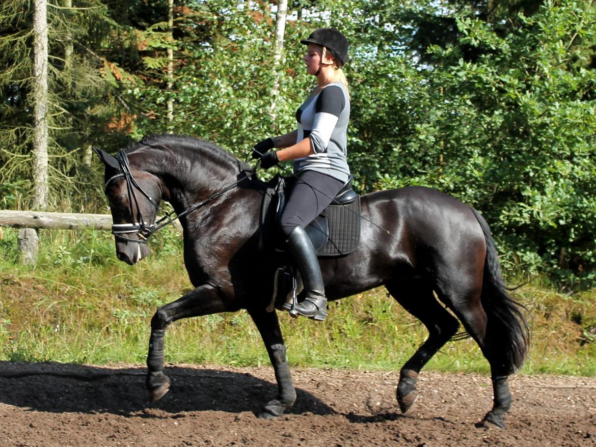
[[[169,212],[165,216],[163,216],[163,218],[159,219],[159,221],[155,222],[154,224],[147,225],[147,222],[145,222],[143,219],[143,216],[141,213],[141,208],[139,207],[139,202],[138,202],[138,199],[136,198],[135,190],[138,190],[142,195],[144,195],[147,198],[147,200],[149,200],[150,203],[155,207],[156,210],[159,209],[159,203],[157,203],[157,201],[153,197],[151,197],[141,187],[141,185],[139,185],[136,182],[135,178],[132,176],[131,166],[128,162],[128,157],[126,156],[125,151],[123,149],[120,149],[118,151],[118,153],[116,154],[115,158],[118,161],[118,164],[120,165],[120,170],[122,172],[119,172],[116,175],[111,176],[105,182],[104,190],[108,187],[108,185],[111,182],[123,177],[126,180],[126,189],[128,190],[129,199],[132,197],[132,200],[129,200],[129,202],[131,203],[131,215],[134,215],[134,207],[132,204],[133,201],[136,204],[136,209],[137,209],[138,213],[136,215],[137,222],[135,222],[133,224],[113,224],[111,226],[111,232],[116,239],[119,239],[119,240],[122,240],[125,242],[132,242],[132,243],[136,243],[136,244],[147,244],[148,239],[151,237],[151,235],[154,232],[159,231],[166,225],[169,225],[169,224],[173,225],[174,221],[176,221],[184,216],[187,216],[188,214],[199,209],[200,207],[205,206],[210,201],[215,200],[220,195],[226,193],[227,191],[231,190],[232,188],[237,187],[238,184],[240,184],[240,182],[244,181],[245,179],[250,178],[249,173],[251,175],[253,173],[250,171],[249,172],[244,171],[244,176],[242,178],[238,179],[233,184],[228,185],[223,190],[218,191],[217,193],[213,193],[212,195],[207,197],[205,200],[200,201],[197,204],[194,204],[189,209],[184,210],[180,214],[176,214],[174,211]],[[131,239],[131,238],[123,236],[123,234],[133,234],[133,233],[136,233],[136,235],[138,236],[138,239]]]

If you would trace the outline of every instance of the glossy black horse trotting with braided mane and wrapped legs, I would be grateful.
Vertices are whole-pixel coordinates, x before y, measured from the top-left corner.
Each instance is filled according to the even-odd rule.
[[[157,309],[151,319],[146,381],[151,401],[170,386],[163,374],[167,325],[246,309],[265,342],[278,384],[277,399],[268,402],[261,415],[283,414],[296,392],[277,313],[266,307],[275,271],[286,255],[262,243],[259,221],[266,183],[248,164],[195,138],[152,136],[116,157],[96,152],[105,164],[118,259],[133,265],[147,256],[148,235],[164,225],[155,224],[162,200],[172,204],[184,228],[184,262],[195,288]],[[426,325],[429,338],[401,369],[401,411],[414,403],[418,373],[457,333],[459,319],[491,365],[493,407],[480,425],[504,427],[511,405],[507,378],[524,361],[529,328],[523,306],[503,285],[485,220],[455,198],[423,187],[363,195],[361,212],[356,250],[321,259],[325,291],[328,299],[336,300],[384,285]]]

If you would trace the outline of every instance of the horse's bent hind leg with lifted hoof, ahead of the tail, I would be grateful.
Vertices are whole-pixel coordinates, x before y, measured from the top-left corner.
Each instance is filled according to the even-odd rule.
[[[420,319],[429,331],[429,338],[418,347],[400,371],[398,403],[402,413],[405,413],[418,398],[416,381],[420,370],[454,336],[460,324],[437,302],[432,289],[423,281],[394,282],[386,287],[397,302]]]

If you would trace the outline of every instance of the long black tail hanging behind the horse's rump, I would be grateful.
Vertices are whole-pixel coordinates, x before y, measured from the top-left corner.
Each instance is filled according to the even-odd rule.
[[[488,316],[486,353],[498,374],[508,375],[522,367],[530,345],[530,328],[522,311],[527,309],[513,300],[501,276],[495,241],[485,219],[472,208],[486,239],[486,263],[482,284],[482,307]],[[493,371],[495,373],[495,371]]]

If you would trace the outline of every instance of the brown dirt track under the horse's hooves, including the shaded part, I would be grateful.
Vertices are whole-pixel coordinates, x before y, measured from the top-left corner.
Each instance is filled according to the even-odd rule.
[[[0,446],[596,446],[596,378],[511,378],[506,430],[477,429],[489,377],[426,373],[408,415],[398,371],[294,370],[283,417],[256,417],[274,398],[272,368],[169,365],[172,389],[147,402],[142,365],[0,362]]]

